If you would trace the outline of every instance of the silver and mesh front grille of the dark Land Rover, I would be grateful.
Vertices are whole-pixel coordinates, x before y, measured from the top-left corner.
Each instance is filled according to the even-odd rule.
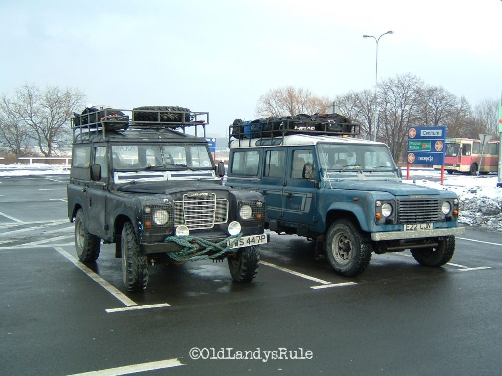
[[[187,226],[190,230],[211,229],[214,224],[228,220],[228,200],[207,196],[183,195],[183,201],[174,203],[174,226]]]

